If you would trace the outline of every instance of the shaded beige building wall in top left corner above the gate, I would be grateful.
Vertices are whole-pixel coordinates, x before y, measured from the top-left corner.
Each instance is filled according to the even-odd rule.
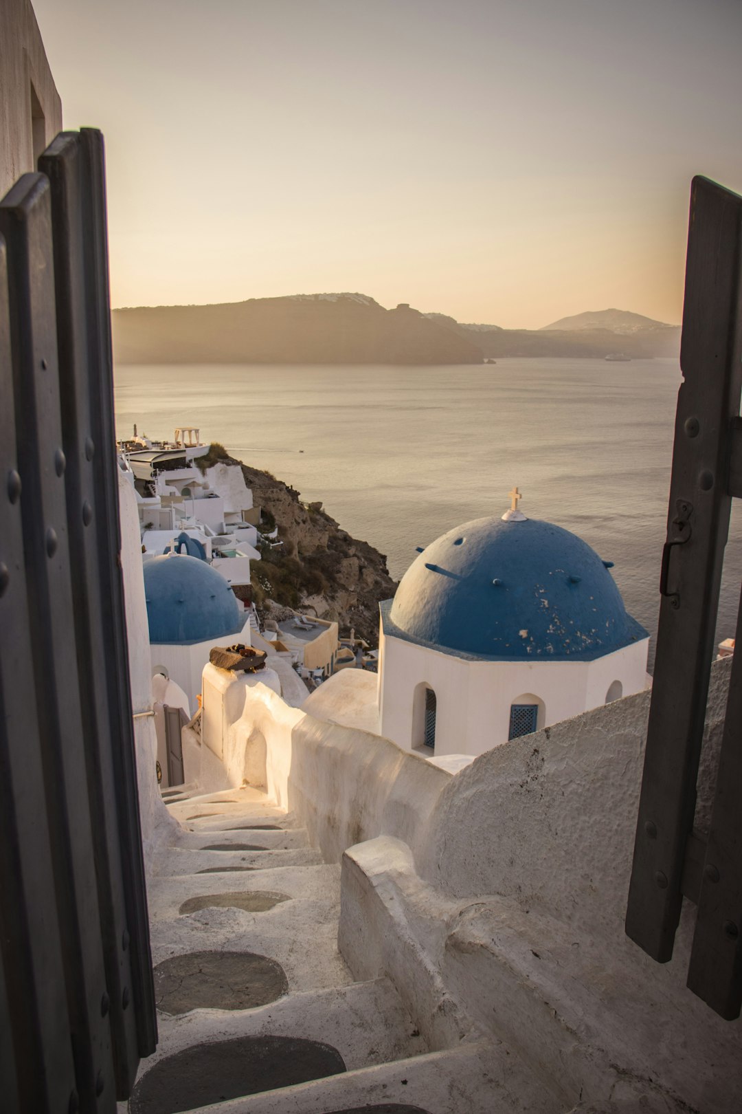
[[[0,197],[21,174],[36,169],[36,158],[61,128],[62,105],[30,0],[2,0]]]

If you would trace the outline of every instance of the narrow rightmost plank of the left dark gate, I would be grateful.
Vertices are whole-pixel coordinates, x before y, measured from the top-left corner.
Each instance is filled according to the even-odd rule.
[[[115,783],[118,800],[119,843],[131,956],[131,999],[137,1018],[139,1054],[157,1047],[157,1009],[149,942],[147,886],[139,822],[139,791],[133,737],[129,651],[126,633],[123,576],[120,564],[118,462],[113,423],[113,354],[108,282],[108,218],[106,212],[106,155],[103,137],[95,128],[80,131],[86,157],[86,273],[88,275],[89,344],[98,373],[91,377],[91,422],[96,446],[97,540],[103,598],[103,622],[110,632],[106,655],[106,683],[113,716]]]

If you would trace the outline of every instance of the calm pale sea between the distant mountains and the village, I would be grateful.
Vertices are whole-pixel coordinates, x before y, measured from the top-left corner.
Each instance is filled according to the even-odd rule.
[[[119,367],[118,434],[200,427],[320,499],[399,577],[439,534],[522,509],[615,561],[654,635],[680,371],[672,360],[498,360],[492,367]],[[732,521],[719,638],[733,636],[742,519]]]

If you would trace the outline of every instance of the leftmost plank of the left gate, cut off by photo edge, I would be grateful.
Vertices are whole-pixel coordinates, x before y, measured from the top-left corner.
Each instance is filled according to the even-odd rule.
[[[0,236],[0,955],[17,1105],[66,1112],[77,1089],[37,719],[16,452],[7,257]]]

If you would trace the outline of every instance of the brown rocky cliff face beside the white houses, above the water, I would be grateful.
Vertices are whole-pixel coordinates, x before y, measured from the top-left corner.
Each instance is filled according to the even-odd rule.
[[[255,506],[263,509],[260,529],[267,532],[274,522],[278,528],[283,545],[264,545],[261,560],[251,568],[258,609],[273,599],[314,612],[339,623],[342,633],[354,627],[356,635],[377,646],[379,600],[389,599],[397,587],[384,554],[340,529],[320,502],[303,502],[293,487],[235,460],[219,446],[211,446],[209,457],[201,459],[239,466]]]

